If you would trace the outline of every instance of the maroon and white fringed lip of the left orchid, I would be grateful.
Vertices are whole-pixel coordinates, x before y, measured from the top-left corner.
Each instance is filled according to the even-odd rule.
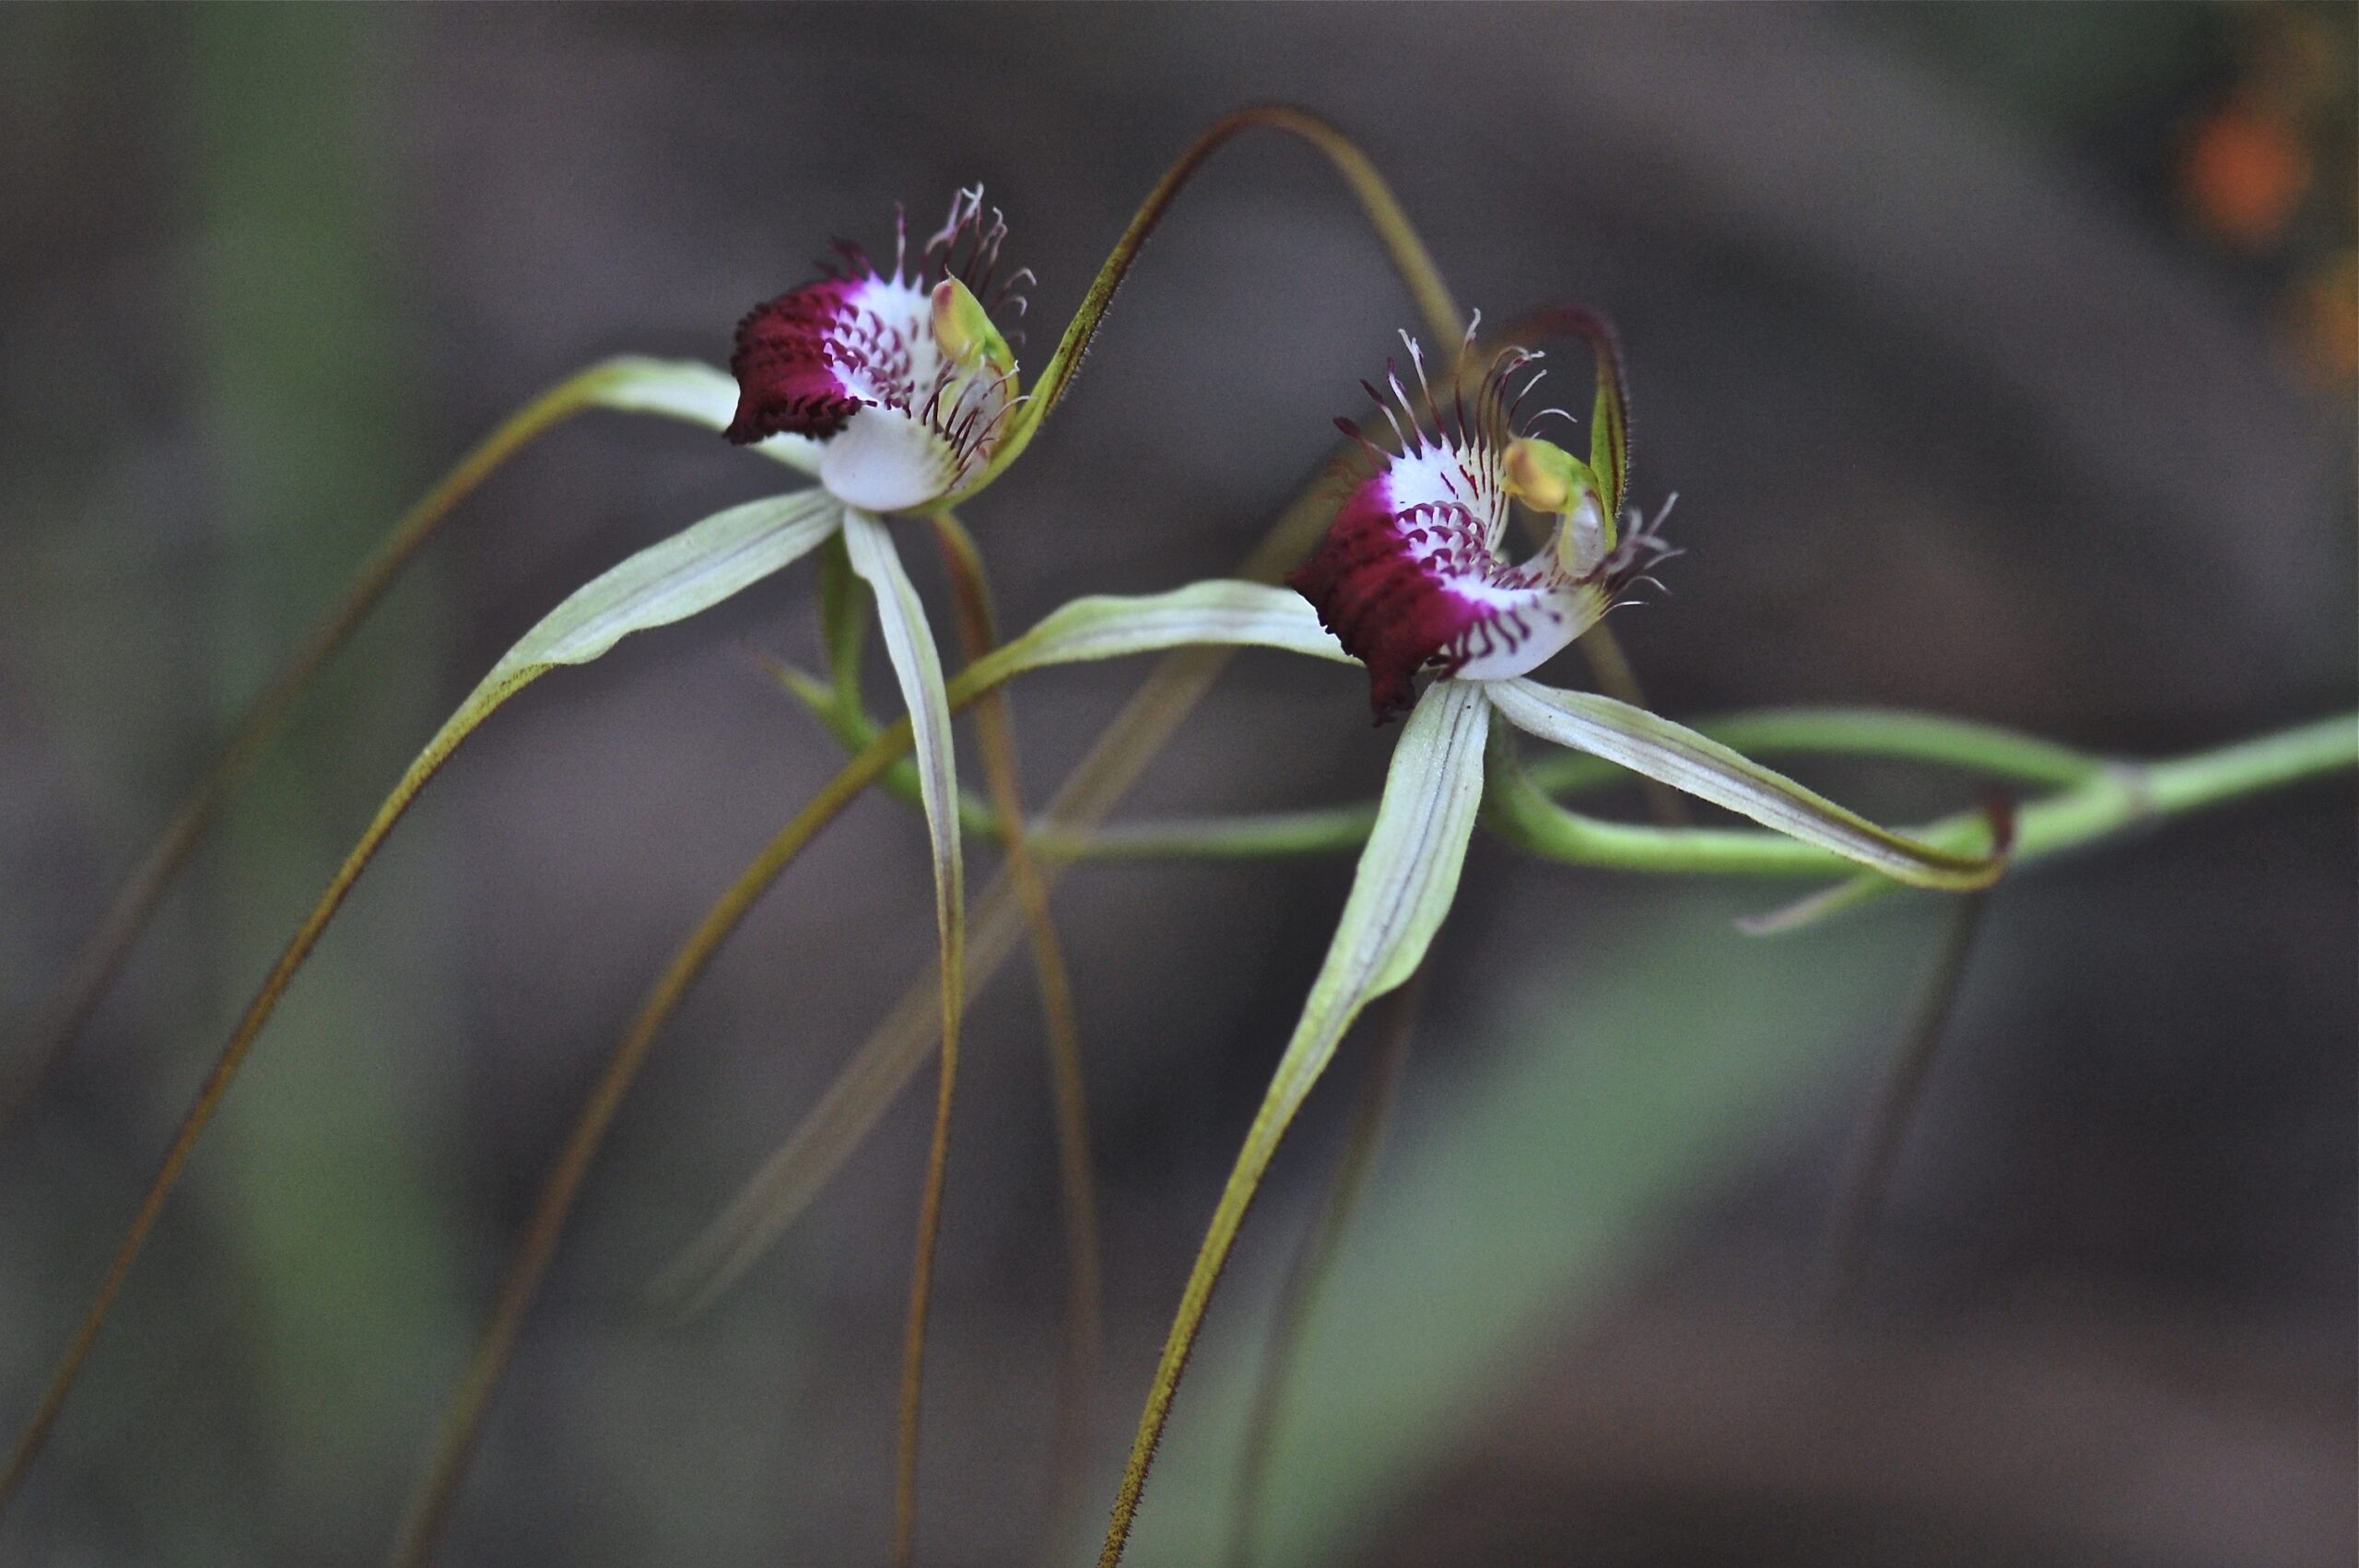
[[[981,200],[981,186],[958,193],[915,271],[896,215],[889,274],[837,241],[842,271],[755,307],[729,356],[729,441],[821,441],[819,483],[863,512],[922,507],[972,479],[1017,406],[1017,361],[993,311],[1021,316],[1017,290],[1031,281],[1021,269],[998,278],[1007,224],[998,212],[984,222]]]

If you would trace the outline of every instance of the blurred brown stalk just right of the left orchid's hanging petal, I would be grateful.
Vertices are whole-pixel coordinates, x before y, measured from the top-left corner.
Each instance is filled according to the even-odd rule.
[[[941,559],[951,573],[958,601],[958,634],[967,660],[998,646],[998,615],[984,559],[953,512],[934,514]],[[1090,1158],[1090,1096],[1080,1066],[1080,1021],[1073,1007],[1073,979],[1057,941],[1057,922],[1047,905],[1047,882],[1033,861],[1024,832],[1024,792],[1017,771],[1014,729],[1007,696],[988,693],[974,703],[974,731],[981,743],[984,783],[991,790],[998,837],[1007,854],[1007,879],[1024,910],[1031,934],[1033,979],[1040,988],[1040,1021],[1047,1045],[1052,1120],[1057,1127],[1057,1186],[1064,1212],[1066,1259],[1066,1342],[1057,1375],[1057,1419],[1050,1438],[1047,1537],[1062,1535],[1062,1523],[1078,1488],[1073,1485],[1087,1452],[1090,1396],[1097,1384],[1102,1269],[1097,1252],[1097,1179]]]

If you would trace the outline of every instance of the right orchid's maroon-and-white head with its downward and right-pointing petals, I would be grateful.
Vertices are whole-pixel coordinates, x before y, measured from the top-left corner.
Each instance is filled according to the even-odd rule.
[[[1444,413],[1411,340],[1420,398],[1411,403],[1399,375],[1387,375],[1389,398],[1368,387],[1392,424],[1397,450],[1340,422],[1375,469],[1347,490],[1326,540],[1293,573],[1290,587],[1300,599],[1293,601],[1290,634],[1274,637],[1272,627],[1253,634],[1255,641],[1361,663],[1378,722],[1404,710],[1408,722],[1326,962],[1180,1297],[1102,1563],[1123,1554],[1213,1285],[1288,1125],[1359,1012],[1425,962],[1456,898],[1467,842],[1486,802],[1507,837],[1529,842],[1517,832],[1517,813],[1531,809],[1533,790],[1517,771],[1505,731],[1493,736],[1493,714],[1512,729],[1592,752],[1901,882],[1984,887],[1998,875],[1996,858],[1887,832],[1691,729],[1531,679],[1543,660],[1597,625],[1616,597],[1668,554],[1651,526],[1616,528],[1628,472],[1621,361],[1611,330],[1602,321],[1583,321],[1597,351],[1588,460],[1512,429],[1514,406],[1531,389],[1531,377],[1519,387],[1517,377],[1536,354],[1510,349],[1498,356],[1472,403],[1453,389]],[[1514,500],[1555,516],[1548,545],[1524,564],[1500,556]],[[1333,634],[1323,646],[1312,646],[1307,637],[1312,620]],[[1439,679],[1413,696],[1411,681],[1420,670]],[[1543,806],[1557,809],[1545,797]]]

